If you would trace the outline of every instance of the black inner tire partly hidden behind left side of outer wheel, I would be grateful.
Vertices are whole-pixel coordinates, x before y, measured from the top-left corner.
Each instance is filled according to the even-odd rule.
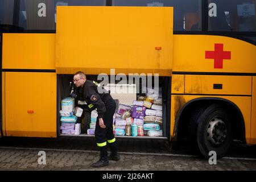
[[[197,106],[193,109],[192,113],[189,114],[188,120],[188,145],[192,152],[200,152],[197,145],[197,127],[199,124],[199,117],[204,113],[207,108],[206,105]]]

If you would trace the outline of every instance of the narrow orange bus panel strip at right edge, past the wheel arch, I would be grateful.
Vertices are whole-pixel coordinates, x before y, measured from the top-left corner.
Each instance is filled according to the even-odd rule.
[[[256,76],[253,77],[253,96],[251,98],[251,140],[256,144]]]

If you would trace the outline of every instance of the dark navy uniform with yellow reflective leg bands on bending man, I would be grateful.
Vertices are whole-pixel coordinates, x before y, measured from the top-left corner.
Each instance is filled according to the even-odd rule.
[[[99,93],[98,88],[104,91],[104,93]],[[112,96],[110,96],[110,93],[97,82],[86,80],[83,86],[77,88],[76,94],[77,105],[79,105],[79,102],[85,101],[86,105],[82,107],[83,109],[86,107],[89,110],[94,110],[97,108],[98,118],[103,118],[106,128],[102,129],[100,127],[97,118],[96,129],[94,133],[97,146],[100,147],[101,159],[108,158],[106,140],[108,140],[108,143],[110,144],[112,155],[117,154],[117,146],[115,144],[116,142],[113,134],[113,115],[115,113],[116,104]]]

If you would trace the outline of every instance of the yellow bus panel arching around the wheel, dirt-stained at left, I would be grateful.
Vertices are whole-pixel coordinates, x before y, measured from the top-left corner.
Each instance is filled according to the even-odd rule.
[[[176,130],[177,130],[177,115],[180,112],[180,109],[189,101],[196,98],[204,98],[213,96],[188,96],[188,95],[172,95],[171,96],[171,140],[176,140]],[[250,130],[251,130],[251,97],[249,96],[217,96],[216,98],[224,98],[233,102],[240,109],[243,119],[245,121],[245,138],[246,143],[250,142]],[[187,129],[183,129],[187,130]]]

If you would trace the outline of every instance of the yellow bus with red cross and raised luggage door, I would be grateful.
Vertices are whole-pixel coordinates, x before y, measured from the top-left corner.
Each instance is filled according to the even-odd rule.
[[[110,92],[119,106],[160,106],[147,106],[160,135],[119,137],[187,139],[205,158],[255,144],[255,22],[255,0],[2,0],[1,137],[77,136],[61,133],[60,110],[83,71],[114,88],[133,76],[122,84],[139,92]],[[141,94],[142,76],[158,98]]]

